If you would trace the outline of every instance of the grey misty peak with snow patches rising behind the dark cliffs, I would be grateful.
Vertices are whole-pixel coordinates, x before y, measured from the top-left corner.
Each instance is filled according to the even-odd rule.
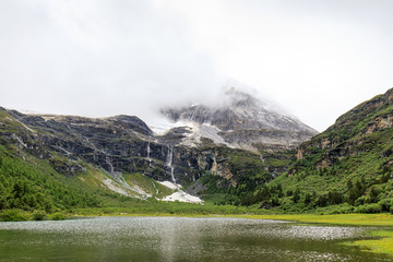
[[[254,92],[230,87],[214,105],[166,107],[160,111],[172,122],[188,126],[183,144],[207,138],[218,144],[258,152],[295,148],[318,132],[298,119],[272,108]]]

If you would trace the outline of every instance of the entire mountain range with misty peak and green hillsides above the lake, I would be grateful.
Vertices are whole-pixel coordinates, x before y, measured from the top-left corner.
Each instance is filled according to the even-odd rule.
[[[393,211],[393,88],[297,147],[315,132],[245,92],[163,112],[179,124],[158,134],[134,116],[0,108],[0,210],[130,207],[198,195],[277,212]]]

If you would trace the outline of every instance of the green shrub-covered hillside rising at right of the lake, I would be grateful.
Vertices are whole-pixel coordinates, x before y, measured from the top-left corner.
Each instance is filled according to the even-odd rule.
[[[341,116],[326,131],[302,143],[296,157],[267,189],[255,191],[258,200],[251,202],[297,212],[330,206],[338,213],[390,211],[393,88]]]

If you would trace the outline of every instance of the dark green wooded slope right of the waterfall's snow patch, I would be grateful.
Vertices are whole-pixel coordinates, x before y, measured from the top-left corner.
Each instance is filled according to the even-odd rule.
[[[262,152],[261,156],[223,147],[221,154],[228,156],[228,169],[237,177],[236,183],[230,183],[225,177],[205,174],[198,181],[205,187],[201,192],[203,200],[217,205],[251,206],[259,203],[254,192],[263,191],[266,182],[274,178],[274,174],[283,174],[295,152]]]

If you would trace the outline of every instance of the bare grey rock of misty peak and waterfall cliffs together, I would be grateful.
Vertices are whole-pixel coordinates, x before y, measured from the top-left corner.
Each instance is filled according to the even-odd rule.
[[[283,163],[289,159],[287,153],[282,155],[284,159],[266,163],[261,154],[273,159],[275,156],[266,151],[291,148],[317,133],[236,90],[227,91],[219,106],[200,105],[163,112],[175,121],[187,120],[193,126],[172,128],[157,135],[134,116],[24,115],[0,108],[0,143],[47,159],[64,176],[83,172],[83,163],[87,163],[119,182],[122,174],[141,172],[158,181],[175,180],[188,186],[211,174],[219,178],[217,188],[229,189],[265,183],[283,174],[286,170]],[[201,191],[204,187],[195,183],[190,190]]]

